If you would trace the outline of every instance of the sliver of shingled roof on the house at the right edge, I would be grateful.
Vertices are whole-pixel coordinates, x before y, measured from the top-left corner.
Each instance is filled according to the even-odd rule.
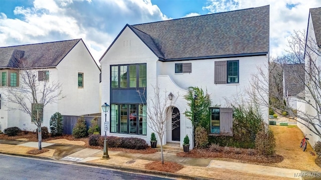
[[[321,7],[310,8],[316,43],[321,46]]]

